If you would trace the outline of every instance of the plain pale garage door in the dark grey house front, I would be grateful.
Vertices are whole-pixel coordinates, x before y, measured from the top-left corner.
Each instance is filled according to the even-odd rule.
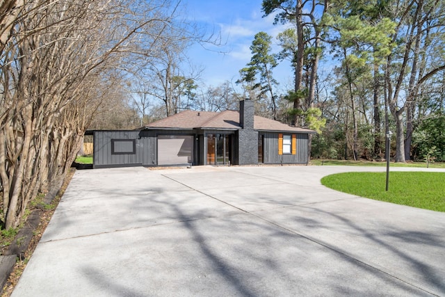
[[[180,165],[189,162],[193,162],[193,136],[158,136],[158,165]]]

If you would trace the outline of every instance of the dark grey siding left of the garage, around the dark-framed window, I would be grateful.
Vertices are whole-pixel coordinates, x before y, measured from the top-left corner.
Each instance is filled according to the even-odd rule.
[[[93,168],[141,165],[143,144],[140,143],[138,135],[139,131],[94,131]],[[113,152],[112,140],[134,141],[136,150],[134,153],[122,153],[120,149],[127,147],[127,144],[119,147],[115,142],[117,147]]]

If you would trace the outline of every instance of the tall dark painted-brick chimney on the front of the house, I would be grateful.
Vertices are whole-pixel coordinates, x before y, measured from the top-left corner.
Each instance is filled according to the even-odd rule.
[[[238,165],[258,164],[258,131],[254,127],[254,103],[250,99],[240,101],[238,130]]]

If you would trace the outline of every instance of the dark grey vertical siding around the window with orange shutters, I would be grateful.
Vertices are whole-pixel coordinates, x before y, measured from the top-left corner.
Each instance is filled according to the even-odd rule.
[[[308,134],[280,133],[284,135],[296,135],[296,154],[279,154],[279,133],[260,132],[263,135],[263,154],[265,164],[306,164],[307,163],[307,142]],[[280,144],[282,145],[282,143]]]

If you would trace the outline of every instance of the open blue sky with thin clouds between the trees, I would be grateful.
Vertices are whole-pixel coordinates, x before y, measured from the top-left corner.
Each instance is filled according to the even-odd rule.
[[[208,35],[212,32],[220,35],[220,46],[207,45],[204,49],[194,45],[188,51],[193,65],[204,67],[201,79],[205,86],[218,86],[225,81],[234,83],[239,78],[239,70],[250,62],[249,47],[260,31],[273,36],[273,52],[280,51],[275,37],[285,27],[274,25],[273,16],[263,17],[262,0],[183,0],[182,3],[187,19],[196,22]],[[289,62],[283,61],[273,74],[280,88],[292,86]]]

